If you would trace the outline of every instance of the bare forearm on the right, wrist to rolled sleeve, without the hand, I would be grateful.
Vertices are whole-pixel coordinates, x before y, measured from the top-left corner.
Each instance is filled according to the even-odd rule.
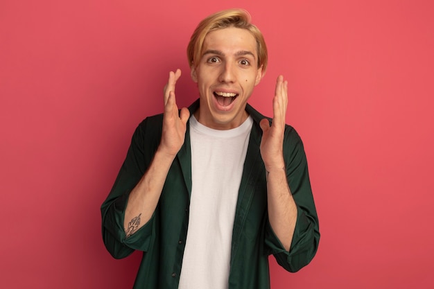
[[[270,225],[289,251],[297,222],[297,206],[290,193],[284,168],[267,171],[267,198]]]

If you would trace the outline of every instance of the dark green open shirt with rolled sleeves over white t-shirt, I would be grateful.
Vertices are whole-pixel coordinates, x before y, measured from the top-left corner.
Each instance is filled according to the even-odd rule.
[[[198,101],[193,103],[189,107],[190,112],[196,111],[198,106]],[[296,272],[313,259],[320,232],[303,144],[297,132],[286,125],[286,175],[298,209],[289,252],[275,236],[268,222],[266,173],[259,152],[262,134],[259,121],[264,116],[250,105],[246,110],[254,124],[236,204],[229,289],[264,289],[270,288],[268,256],[273,254],[279,265]],[[123,230],[128,194],[153,159],[161,139],[162,119],[162,114],[151,116],[137,127],[112,191],[101,207],[103,240],[110,254],[121,259],[134,250],[144,252],[134,289],[176,289],[182,267],[191,193],[188,124],[184,145],[169,170],[152,218],[129,238],[125,238]]]

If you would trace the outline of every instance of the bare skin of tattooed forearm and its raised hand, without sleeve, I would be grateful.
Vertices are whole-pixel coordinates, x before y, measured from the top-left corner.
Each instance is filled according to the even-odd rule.
[[[128,197],[123,223],[127,238],[150,220],[157,207],[168,170],[184,143],[186,122],[190,114],[185,107],[178,114],[174,91],[180,76],[180,69],[169,73],[168,83],[164,87],[162,139],[148,170]]]

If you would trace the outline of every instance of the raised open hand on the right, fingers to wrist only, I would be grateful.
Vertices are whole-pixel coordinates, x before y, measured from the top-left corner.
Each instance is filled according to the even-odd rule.
[[[288,106],[288,81],[283,76],[277,78],[275,97],[272,99],[272,124],[263,119],[261,129],[261,156],[267,172],[285,168],[283,146],[286,107]]]

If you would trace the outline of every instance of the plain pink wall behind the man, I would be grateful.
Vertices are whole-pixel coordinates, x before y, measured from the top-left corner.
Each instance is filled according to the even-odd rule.
[[[270,66],[250,103],[271,115],[279,73],[305,143],[322,238],[272,288],[434,288],[433,1],[0,1],[0,288],[131,288],[100,206],[136,125],[162,112],[168,71],[197,98],[198,21],[250,11]]]

